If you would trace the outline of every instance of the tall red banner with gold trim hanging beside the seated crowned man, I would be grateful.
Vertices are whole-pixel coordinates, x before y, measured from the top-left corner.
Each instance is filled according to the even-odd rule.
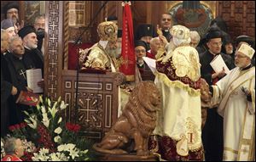
[[[123,3],[122,56],[120,71],[125,74],[126,81],[134,81],[136,58],[134,53],[133,23],[131,3]]]

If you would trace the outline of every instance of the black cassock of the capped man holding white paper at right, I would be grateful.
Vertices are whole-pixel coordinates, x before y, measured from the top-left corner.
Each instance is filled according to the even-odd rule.
[[[235,67],[233,59],[224,53],[220,53],[225,64],[230,70]],[[214,56],[208,50],[200,54],[201,77],[211,86],[212,66],[210,65]],[[218,78],[218,80],[221,78]],[[220,160],[223,158],[223,118],[218,115],[217,108],[207,109],[207,121],[202,129],[202,142],[205,149],[205,158],[207,161]]]

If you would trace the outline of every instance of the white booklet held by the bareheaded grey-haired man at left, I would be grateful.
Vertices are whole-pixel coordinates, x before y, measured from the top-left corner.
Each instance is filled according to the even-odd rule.
[[[43,92],[43,88],[38,87],[38,81],[42,81],[41,69],[26,70],[27,87],[31,88],[34,93]]]

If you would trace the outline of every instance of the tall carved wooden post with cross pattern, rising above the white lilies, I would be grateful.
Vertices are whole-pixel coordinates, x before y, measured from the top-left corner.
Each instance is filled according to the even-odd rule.
[[[44,81],[45,94],[56,100],[61,94],[63,2],[46,1]]]

